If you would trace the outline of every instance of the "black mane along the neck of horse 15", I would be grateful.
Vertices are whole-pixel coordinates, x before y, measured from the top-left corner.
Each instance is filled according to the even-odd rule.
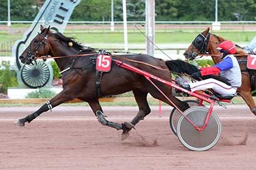
[[[65,35],[61,34],[61,32],[54,33],[54,36],[56,39],[61,40],[62,42],[68,44],[69,42],[72,42],[73,46],[77,50],[81,50],[82,52],[96,52],[96,49],[93,49],[91,47],[86,47],[82,45],[81,43],[78,43],[75,41],[73,37],[66,37]]]

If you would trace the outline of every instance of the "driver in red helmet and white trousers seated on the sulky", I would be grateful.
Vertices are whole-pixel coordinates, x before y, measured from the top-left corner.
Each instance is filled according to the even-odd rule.
[[[194,83],[178,82],[180,87],[191,92],[212,88],[212,90],[220,95],[234,95],[237,92],[237,88],[239,88],[242,84],[242,75],[239,63],[234,55],[232,55],[236,52],[235,44],[229,40],[225,40],[218,45],[217,49],[220,50],[220,56],[223,60],[212,67],[200,68],[200,71],[193,73],[192,77],[198,79],[204,75],[220,73],[220,77],[227,80],[230,85],[220,82],[214,78],[209,78]]]

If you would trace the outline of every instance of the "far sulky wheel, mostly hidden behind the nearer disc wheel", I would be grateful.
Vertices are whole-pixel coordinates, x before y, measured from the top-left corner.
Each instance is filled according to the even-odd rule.
[[[190,107],[199,105],[199,101],[197,100],[185,100],[184,102],[187,102]],[[173,108],[172,112],[170,112],[170,118],[169,118],[170,129],[176,136],[177,136],[177,124],[180,116],[182,116],[182,114],[176,108]]]

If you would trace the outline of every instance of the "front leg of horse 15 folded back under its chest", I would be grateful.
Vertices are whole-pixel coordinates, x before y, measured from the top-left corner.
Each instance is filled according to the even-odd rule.
[[[92,111],[96,115],[97,120],[99,121],[99,123],[101,123],[104,126],[109,126],[111,128],[115,128],[116,130],[122,130],[123,129],[123,127],[124,127],[123,124],[115,123],[115,122],[106,120],[105,115],[102,111],[101,105],[99,104],[99,100],[93,100],[93,101],[90,101],[88,103],[91,106]]]

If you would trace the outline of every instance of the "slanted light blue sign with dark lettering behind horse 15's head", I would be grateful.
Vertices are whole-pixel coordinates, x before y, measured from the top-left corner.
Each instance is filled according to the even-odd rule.
[[[31,24],[31,27],[24,33],[22,39],[17,40],[12,47],[12,56],[16,56],[16,64],[19,70],[21,69],[19,55],[26,49],[37,32],[41,32],[40,26],[51,26],[51,29],[63,32],[74,7],[76,7],[80,1],[81,0],[46,0],[44,2],[34,22]]]

